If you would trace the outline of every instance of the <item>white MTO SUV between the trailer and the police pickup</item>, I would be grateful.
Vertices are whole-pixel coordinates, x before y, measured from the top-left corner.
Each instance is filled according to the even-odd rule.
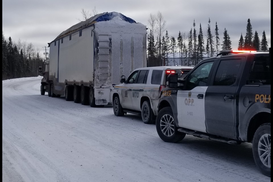
[[[115,85],[112,91],[115,115],[141,114],[144,123],[154,123],[160,91],[166,87],[167,76],[178,73],[183,79],[191,69],[191,66],[145,67],[135,69],[127,79],[122,75],[121,84]]]

